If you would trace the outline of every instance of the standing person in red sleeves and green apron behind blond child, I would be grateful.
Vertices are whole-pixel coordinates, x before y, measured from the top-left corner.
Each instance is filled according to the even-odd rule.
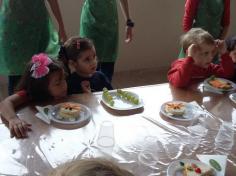
[[[184,32],[192,27],[208,31],[215,39],[224,40],[230,24],[230,0],[186,0]],[[184,58],[181,49],[179,58]]]

